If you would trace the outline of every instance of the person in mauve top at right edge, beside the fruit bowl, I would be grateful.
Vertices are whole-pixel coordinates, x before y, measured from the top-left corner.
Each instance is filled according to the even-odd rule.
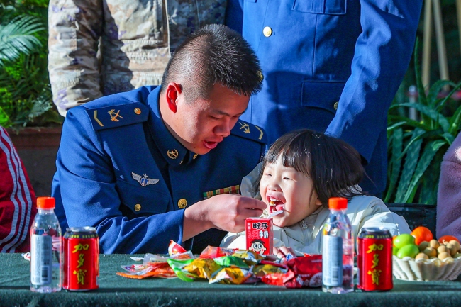
[[[437,238],[461,240],[461,133],[443,156],[437,192]]]

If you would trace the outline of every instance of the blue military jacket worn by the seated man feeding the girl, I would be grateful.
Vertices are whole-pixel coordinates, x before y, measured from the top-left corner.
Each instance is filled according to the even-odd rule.
[[[264,131],[238,121],[208,154],[189,152],[162,122],[159,94],[148,86],[105,96],[65,119],[55,212],[63,229],[96,227],[103,253],[162,253],[170,240],[190,248],[182,209],[237,192],[265,149]]]

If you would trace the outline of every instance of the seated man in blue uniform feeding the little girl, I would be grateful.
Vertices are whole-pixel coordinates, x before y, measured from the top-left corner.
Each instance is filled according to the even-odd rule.
[[[96,227],[104,253],[162,253],[170,240],[189,249],[211,228],[244,230],[265,208],[238,195],[267,143],[239,120],[260,86],[248,43],[211,25],[177,48],[162,86],[72,108],[52,184],[62,228]],[[204,234],[194,252],[222,238]]]

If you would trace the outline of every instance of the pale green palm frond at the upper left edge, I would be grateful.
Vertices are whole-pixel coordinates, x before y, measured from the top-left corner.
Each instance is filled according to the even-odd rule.
[[[0,25],[0,67],[13,62],[21,53],[38,52],[40,40],[33,33],[45,30],[43,23],[32,16],[18,16],[6,25]]]

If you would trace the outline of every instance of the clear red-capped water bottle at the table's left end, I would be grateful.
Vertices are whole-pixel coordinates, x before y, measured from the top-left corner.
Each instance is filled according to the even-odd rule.
[[[62,286],[62,233],[55,199],[38,197],[38,213],[30,229],[30,291],[48,293]]]

